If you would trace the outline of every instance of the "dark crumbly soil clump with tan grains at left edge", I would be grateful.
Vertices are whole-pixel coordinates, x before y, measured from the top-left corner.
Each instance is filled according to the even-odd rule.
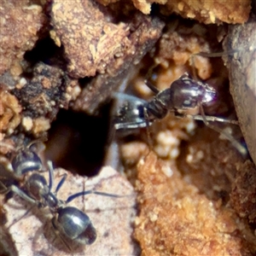
[[[76,98],[78,81],[69,79],[60,67],[38,62],[32,69],[32,78],[14,79],[10,73],[0,77],[0,131],[10,135],[18,125],[35,137],[49,130],[60,108]]]

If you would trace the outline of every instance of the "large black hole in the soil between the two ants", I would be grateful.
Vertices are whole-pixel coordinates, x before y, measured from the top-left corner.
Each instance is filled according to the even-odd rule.
[[[61,110],[49,131],[46,159],[55,167],[94,176],[102,167],[108,140],[108,107],[101,116]]]

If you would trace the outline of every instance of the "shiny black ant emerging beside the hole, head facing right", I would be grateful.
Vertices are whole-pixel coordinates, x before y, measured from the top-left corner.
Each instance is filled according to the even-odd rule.
[[[144,81],[156,94],[149,101],[143,101],[135,96],[116,93],[115,96],[125,102],[119,108],[118,114],[113,120],[115,130],[131,130],[148,127],[156,119],[163,119],[169,111],[173,111],[177,117],[187,116],[184,111],[199,108],[201,115],[191,115],[193,119],[202,120],[215,131],[230,140],[234,147],[242,154],[247,154],[247,149],[238,143],[230,134],[221,131],[218,127],[209,124],[209,121],[226,122],[238,125],[235,120],[221,119],[215,116],[207,116],[204,107],[210,106],[217,100],[217,92],[207,83],[192,79],[188,73],[184,73],[175,80],[166,90],[158,90],[148,80]]]

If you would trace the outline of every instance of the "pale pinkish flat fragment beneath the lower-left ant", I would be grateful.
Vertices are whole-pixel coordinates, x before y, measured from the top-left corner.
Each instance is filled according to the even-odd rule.
[[[116,195],[129,195],[124,198],[113,198],[101,195],[80,196],[68,206],[78,207],[86,212],[97,231],[97,240],[90,246],[82,246],[69,241],[73,252],[70,252],[55,233],[51,224],[52,214],[45,209],[32,205],[14,195],[4,204],[8,222],[1,226],[1,241],[11,255],[137,255],[137,246],[131,239],[132,222],[136,209],[136,194],[131,184],[110,167],[102,168],[97,177],[84,178],[73,176],[61,168],[55,169],[55,185],[67,173],[67,180],[58,192],[58,198],[66,200],[69,195],[84,189]],[[48,178],[48,173],[44,176]],[[55,188],[54,188],[55,189]],[[3,195],[2,195],[3,203]],[[1,204],[2,204],[1,203]],[[18,220],[16,222],[16,220]],[[12,224],[10,227],[9,225]],[[8,228],[9,227],[9,228]],[[65,239],[65,237],[63,238]],[[67,239],[66,239],[67,241]]]

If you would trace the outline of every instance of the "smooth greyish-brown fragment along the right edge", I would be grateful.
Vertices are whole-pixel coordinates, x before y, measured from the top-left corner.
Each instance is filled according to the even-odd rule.
[[[235,50],[224,61],[230,73],[230,93],[233,97],[241,131],[256,164],[256,21],[252,17],[245,25],[229,27],[224,50]]]

